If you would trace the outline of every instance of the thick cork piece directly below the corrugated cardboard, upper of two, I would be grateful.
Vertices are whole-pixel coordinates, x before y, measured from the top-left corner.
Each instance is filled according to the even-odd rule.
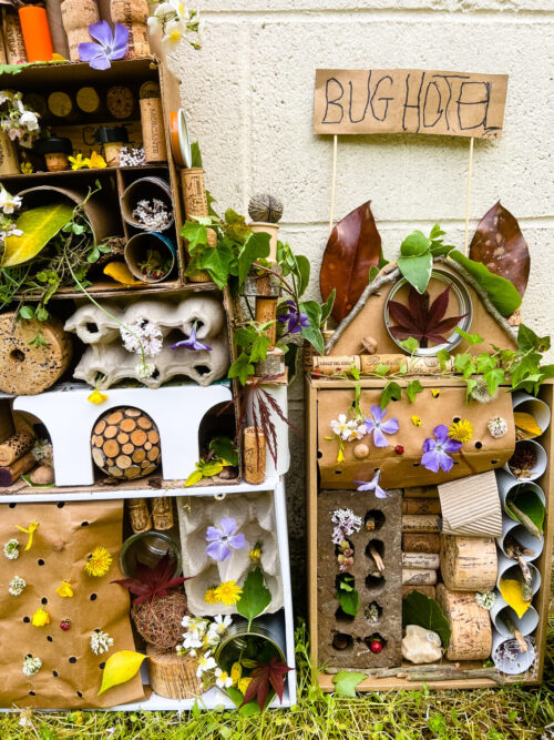
[[[497,576],[492,537],[441,535],[442,580],[451,591],[489,591]]]

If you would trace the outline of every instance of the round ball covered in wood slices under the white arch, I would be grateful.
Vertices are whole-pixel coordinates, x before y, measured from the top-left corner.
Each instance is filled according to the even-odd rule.
[[[120,406],[102,414],[94,425],[91,447],[101,470],[125,480],[150,475],[162,460],[157,427],[138,408]]]

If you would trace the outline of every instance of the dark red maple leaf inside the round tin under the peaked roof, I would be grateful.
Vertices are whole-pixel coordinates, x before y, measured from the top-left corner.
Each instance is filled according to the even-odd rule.
[[[398,326],[390,326],[389,331],[396,339],[418,339],[421,347],[427,347],[429,342],[443,344],[448,342],[444,333],[450,333],[463,316],[451,316],[444,318],[450,301],[450,288],[438,295],[429,305],[429,293],[420,294],[412,286],[408,294],[408,306],[398,301],[389,302],[389,314]]]

